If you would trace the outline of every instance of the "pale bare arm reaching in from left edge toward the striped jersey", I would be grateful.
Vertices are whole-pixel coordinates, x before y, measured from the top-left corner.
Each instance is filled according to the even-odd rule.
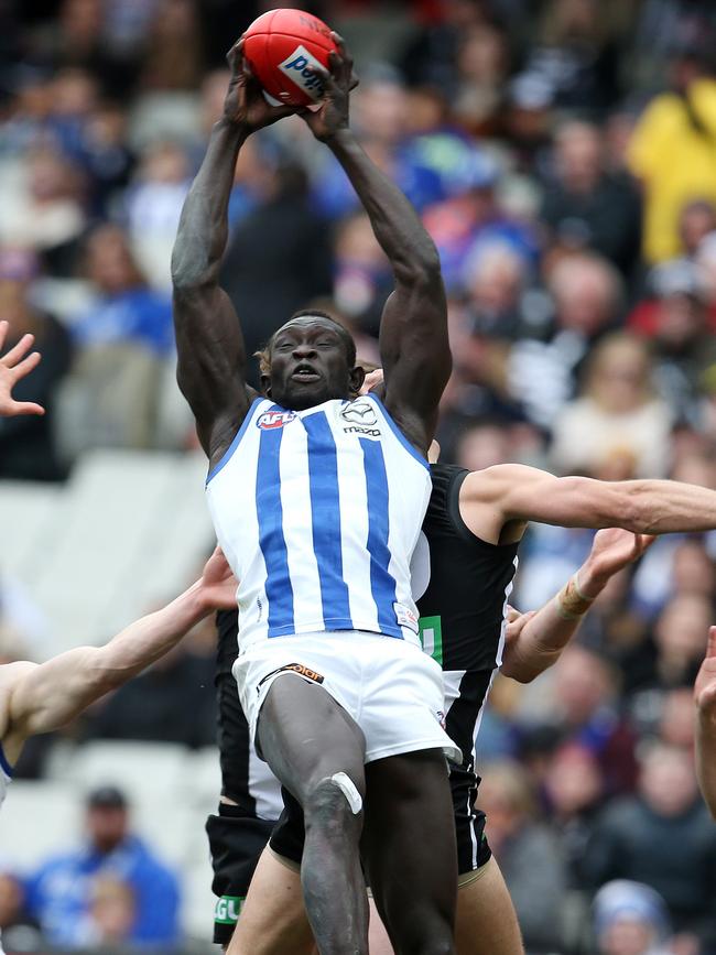
[[[199,580],[180,597],[131,623],[104,647],[78,647],[46,663],[17,663],[10,688],[3,748],[11,762],[24,740],[48,732],[78,716],[164,653],[208,614],[236,607],[236,580],[218,549]]]

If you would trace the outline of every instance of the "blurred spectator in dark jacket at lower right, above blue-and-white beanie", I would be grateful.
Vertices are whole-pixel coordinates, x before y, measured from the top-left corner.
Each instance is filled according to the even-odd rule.
[[[642,757],[639,793],[604,811],[584,869],[595,888],[631,879],[655,889],[675,931],[697,936],[709,951],[716,932],[716,829],[699,799],[690,752],[657,744]]]

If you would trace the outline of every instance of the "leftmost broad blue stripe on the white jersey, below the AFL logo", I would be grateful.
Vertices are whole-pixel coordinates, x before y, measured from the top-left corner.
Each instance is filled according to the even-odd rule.
[[[274,404],[269,411],[281,411]],[[269,637],[293,631],[293,587],[289,573],[289,552],[283,535],[281,473],[279,453],[283,428],[261,432],[256,475],[256,512],[259,519],[259,546],[267,567],[265,596],[269,604]]]

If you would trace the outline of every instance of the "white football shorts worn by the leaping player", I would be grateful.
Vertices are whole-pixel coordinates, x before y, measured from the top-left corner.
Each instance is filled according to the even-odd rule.
[[[414,643],[337,630],[272,637],[248,648],[234,676],[252,740],[271,684],[286,675],[322,686],[355,719],[366,737],[366,762],[421,749],[442,749],[462,762],[443,728],[443,671]]]

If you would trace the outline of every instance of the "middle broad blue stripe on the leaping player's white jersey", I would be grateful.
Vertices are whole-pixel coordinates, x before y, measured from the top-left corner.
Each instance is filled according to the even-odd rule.
[[[324,411],[307,414],[303,425],[308,435],[313,550],[318,565],[323,621],[327,630],[352,630],[348,587],[343,577],[336,442]]]

